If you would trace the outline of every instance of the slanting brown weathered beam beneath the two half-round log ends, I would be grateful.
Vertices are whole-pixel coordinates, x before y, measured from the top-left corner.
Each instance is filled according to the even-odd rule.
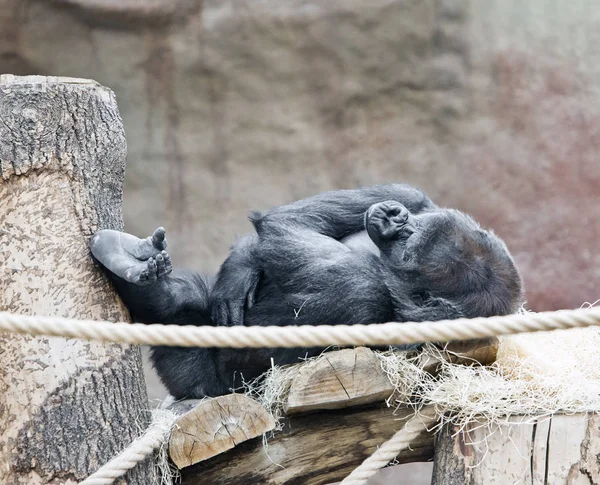
[[[254,439],[210,460],[184,468],[183,485],[325,485],[342,480],[378,446],[402,428],[410,409],[382,405],[291,416],[265,448]],[[433,436],[424,432],[397,458],[399,463],[428,461]]]

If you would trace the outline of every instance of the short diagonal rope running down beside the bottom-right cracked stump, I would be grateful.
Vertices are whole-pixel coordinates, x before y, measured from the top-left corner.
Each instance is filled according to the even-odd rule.
[[[426,406],[418,411],[400,431],[344,478],[340,485],[363,485],[367,483],[369,478],[396,458],[398,453],[408,448],[423,431],[429,429],[437,420],[438,415],[433,406]]]

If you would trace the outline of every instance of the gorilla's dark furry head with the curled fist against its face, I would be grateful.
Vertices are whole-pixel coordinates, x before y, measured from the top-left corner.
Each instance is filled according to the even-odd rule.
[[[411,214],[382,202],[367,211],[365,228],[393,295],[416,305],[443,298],[467,317],[514,313],[522,303],[521,277],[504,242],[460,211]]]

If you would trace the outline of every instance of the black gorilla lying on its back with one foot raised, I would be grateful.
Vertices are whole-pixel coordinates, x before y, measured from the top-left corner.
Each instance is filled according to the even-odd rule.
[[[251,216],[215,281],[174,270],[164,230],[100,231],[94,257],[132,318],[193,325],[338,325],[515,312],[521,279],[504,243],[421,191],[390,184],[328,192]],[[176,398],[218,396],[320,348],[154,347]]]

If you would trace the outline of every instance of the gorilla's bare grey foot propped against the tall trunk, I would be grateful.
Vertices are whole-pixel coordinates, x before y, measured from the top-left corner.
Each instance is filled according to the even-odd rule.
[[[90,240],[94,258],[111,273],[135,285],[154,283],[172,271],[166,247],[162,227],[145,239],[107,229],[98,231]]]

